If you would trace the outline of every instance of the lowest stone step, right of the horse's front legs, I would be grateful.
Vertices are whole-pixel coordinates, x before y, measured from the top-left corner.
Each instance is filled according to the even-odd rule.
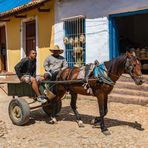
[[[109,102],[120,102],[124,104],[139,104],[146,105],[148,104],[148,97],[144,96],[134,96],[134,95],[120,95],[120,94],[110,94]]]

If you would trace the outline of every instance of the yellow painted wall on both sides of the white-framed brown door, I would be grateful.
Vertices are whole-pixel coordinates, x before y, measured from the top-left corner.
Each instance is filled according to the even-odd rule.
[[[38,65],[39,73],[44,72],[43,62],[49,55],[49,47],[54,44],[54,1],[47,2],[44,7],[50,8],[49,12],[39,12],[37,9],[25,12],[27,18],[37,16],[38,32]],[[20,14],[20,15],[23,15]],[[24,19],[27,19],[24,18]],[[8,49],[8,71],[14,71],[14,66],[21,57],[21,21],[22,18],[11,17],[7,22],[7,49]]]

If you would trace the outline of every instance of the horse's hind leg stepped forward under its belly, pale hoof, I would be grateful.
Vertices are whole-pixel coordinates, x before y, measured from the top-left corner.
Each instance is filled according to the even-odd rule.
[[[71,102],[70,102],[71,108],[76,116],[79,127],[84,127],[83,121],[81,120],[81,116],[77,111],[76,102],[77,102],[77,94],[71,92]]]

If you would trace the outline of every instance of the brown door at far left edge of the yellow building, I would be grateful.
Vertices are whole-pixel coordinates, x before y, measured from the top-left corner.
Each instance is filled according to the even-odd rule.
[[[7,71],[7,49],[5,26],[0,27],[0,71]]]

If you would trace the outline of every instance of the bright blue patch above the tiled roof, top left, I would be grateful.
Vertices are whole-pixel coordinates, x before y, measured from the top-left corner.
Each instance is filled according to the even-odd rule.
[[[0,0],[0,13],[26,4],[32,0]]]

